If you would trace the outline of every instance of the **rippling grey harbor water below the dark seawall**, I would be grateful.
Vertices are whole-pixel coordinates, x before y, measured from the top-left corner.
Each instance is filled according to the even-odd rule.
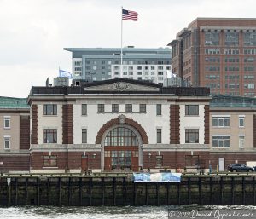
[[[169,217],[168,217],[169,210]],[[256,218],[256,205],[168,205],[125,207],[10,207],[0,208],[6,219],[159,219],[159,218]]]

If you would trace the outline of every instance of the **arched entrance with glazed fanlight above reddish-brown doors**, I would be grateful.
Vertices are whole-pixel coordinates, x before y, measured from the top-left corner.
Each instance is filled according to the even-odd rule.
[[[107,131],[103,141],[104,170],[138,170],[141,137],[129,125]]]

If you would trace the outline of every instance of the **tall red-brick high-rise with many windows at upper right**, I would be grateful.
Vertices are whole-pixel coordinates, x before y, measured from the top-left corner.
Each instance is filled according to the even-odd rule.
[[[255,95],[255,18],[197,18],[168,45],[172,72],[189,84],[212,95]]]

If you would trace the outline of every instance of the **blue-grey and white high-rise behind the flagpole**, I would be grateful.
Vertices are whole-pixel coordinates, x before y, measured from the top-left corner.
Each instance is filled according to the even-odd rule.
[[[64,48],[72,52],[73,79],[102,81],[130,78],[163,83],[171,72],[171,49]],[[121,69],[122,67],[122,69]]]

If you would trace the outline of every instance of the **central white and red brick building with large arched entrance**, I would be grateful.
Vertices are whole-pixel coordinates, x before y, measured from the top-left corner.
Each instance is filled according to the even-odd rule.
[[[210,99],[207,88],[125,78],[32,87],[30,170],[207,168]]]

